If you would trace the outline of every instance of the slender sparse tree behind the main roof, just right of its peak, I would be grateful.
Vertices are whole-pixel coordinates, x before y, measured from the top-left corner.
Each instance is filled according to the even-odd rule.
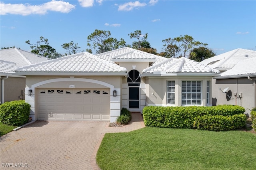
[[[134,49],[140,49],[140,48],[150,48],[150,43],[147,41],[148,39],[148,33],[145,35],[142,35],[140,30],[134,31],[134,33],[128,34],[130,38],[136,38],[138,39],[138,42],[132,42],[132,48]]]

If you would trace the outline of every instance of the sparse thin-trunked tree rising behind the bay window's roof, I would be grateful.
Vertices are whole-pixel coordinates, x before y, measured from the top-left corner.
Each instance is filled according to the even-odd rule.
[[[188,35],[179,36],[173,39],[168,38],[162,42],[165,43],[163,46],[166,47],[164,49],[166,54],[169,54],[167,57],[176,57],[180,52],[183,52],[183,54],[180,55],[181,57],[186,57],[186,53],[192,48],[208,45],[207,43],[195,41],[194,38]]]

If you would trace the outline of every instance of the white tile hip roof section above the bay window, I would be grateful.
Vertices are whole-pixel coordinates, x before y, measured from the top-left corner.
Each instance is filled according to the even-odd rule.
[[[166,73],[219,73],[216,69],[211,69],[194,60],[181,58],[169,58],[158,64],[154,64],[142,71],[142,73],[154,73],[154,71],[166,71]]]

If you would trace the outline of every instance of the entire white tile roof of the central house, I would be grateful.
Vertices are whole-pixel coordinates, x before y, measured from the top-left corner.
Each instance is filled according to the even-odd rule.
[[[121,67],[113,60],[143,60],[152,65],[142,73],[154,73],[154,71],[166,71],[166,73],[219,73],[194,60],[182,58],[166,58],[146,53],[129,47],[92,55],[90,53],[78,53],[44,61],[34,65],[20,67],[16,72],[20,73],[126,73],[126,68]]]

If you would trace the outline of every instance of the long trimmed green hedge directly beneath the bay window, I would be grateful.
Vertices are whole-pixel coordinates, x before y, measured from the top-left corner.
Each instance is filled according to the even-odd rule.
[[[240,115],[245,109],[240,106],[218,105],[213,107],[161,107],[147,106],[143,109],[146,126],[165,128],[194,128],[194,121],[199,116],[233,116]],[[244,125],[243,125],[244,126]]]

